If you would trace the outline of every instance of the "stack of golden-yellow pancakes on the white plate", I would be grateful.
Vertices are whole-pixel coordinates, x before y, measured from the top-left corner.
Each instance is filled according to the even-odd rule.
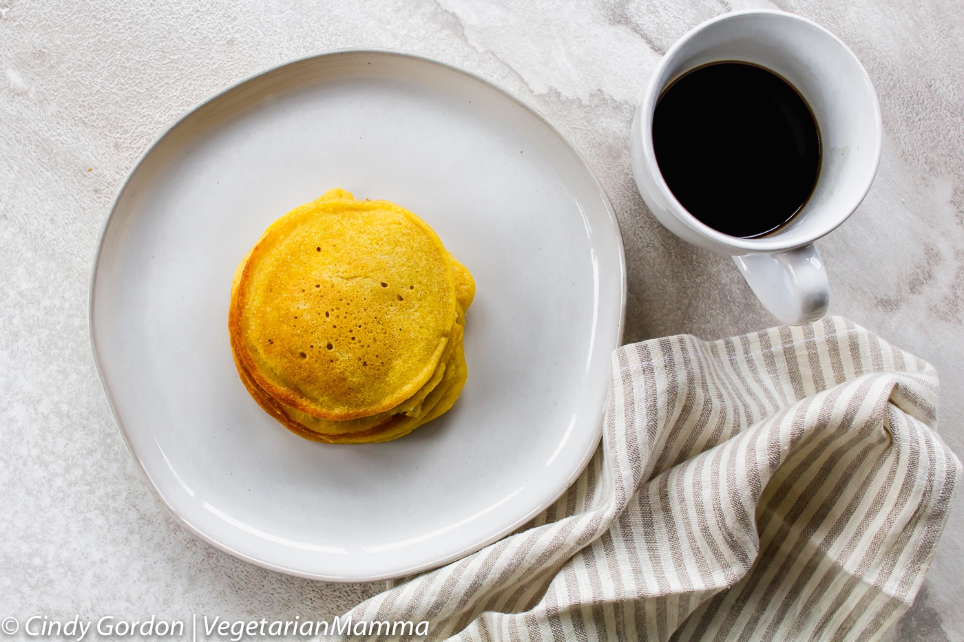
[[[466,383],[469,270],[388,201],[334,189],[264,232],[231,288],[245,387],[313,441],[389,441],[442,415]]]

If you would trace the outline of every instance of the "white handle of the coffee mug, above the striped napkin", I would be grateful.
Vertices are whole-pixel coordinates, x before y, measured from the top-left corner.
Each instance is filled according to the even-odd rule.
[[[813,243],[775,254],[734,256],[753,293],[780,323],[817,321],[830,306],[830,284]]]

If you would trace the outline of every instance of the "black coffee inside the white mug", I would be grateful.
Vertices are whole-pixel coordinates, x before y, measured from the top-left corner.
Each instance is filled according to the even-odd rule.
[[[806,101],[780,76],[746,63],[697,67],[670,85],[656,103],[653,145],[686,211],[742,238],[790,221],[820,168]]]

